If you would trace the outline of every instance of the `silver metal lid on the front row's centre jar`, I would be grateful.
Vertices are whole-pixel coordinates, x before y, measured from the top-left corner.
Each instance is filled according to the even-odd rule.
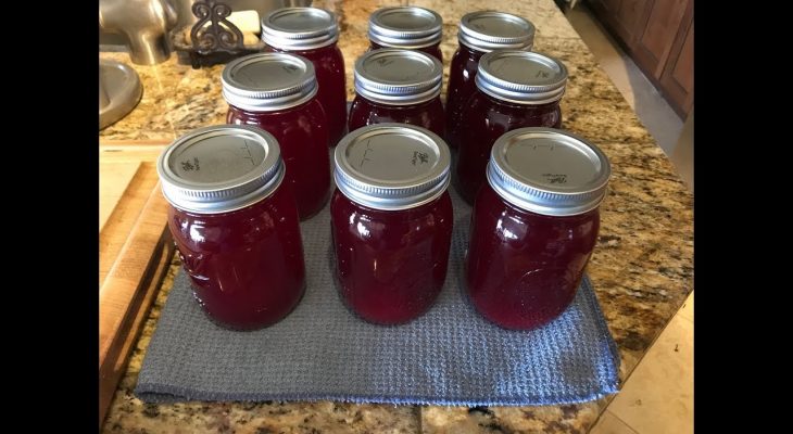
[[[424,205],[449,187],[451,154],[431,131],[376,124],[347,135],[333,155],[336,186],[351,201],[376,209]]]

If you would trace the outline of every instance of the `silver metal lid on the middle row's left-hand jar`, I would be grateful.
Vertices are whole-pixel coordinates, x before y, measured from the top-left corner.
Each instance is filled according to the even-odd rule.
[[[223,98],[253,112],[273,112],[303,104],[317,92],[314,65],[289,53],[256,53],[236,59],[221,75]]]

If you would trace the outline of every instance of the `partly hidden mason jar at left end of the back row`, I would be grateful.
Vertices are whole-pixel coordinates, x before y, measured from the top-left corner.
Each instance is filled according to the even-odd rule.
[[[262,18],[262,40],[268,51],[302,55],[314,64],[319,89],[317,99],[328,119],[330,145],[347,129],[344,58],[337,46],[336,15],[317,8],[285,8]]]

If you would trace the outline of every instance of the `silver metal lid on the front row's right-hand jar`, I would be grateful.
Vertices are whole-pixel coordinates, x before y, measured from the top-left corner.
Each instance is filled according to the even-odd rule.
[[[488,182],[506,202],[546,216],[594,209],[606,194],[612,167],[584,139],[553,128],[518,128],[490,154]]]

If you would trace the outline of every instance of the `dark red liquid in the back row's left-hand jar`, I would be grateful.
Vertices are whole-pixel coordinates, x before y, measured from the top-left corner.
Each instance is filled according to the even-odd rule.
[[[267,47],[267,51],[302,55],[314,64],[319,86],[317,100],[327,117],[329,145],[333,146],[344,136],[347,128],[347,85],[344,84],[344,58],[336,43],[315,50],[279,50]]]

